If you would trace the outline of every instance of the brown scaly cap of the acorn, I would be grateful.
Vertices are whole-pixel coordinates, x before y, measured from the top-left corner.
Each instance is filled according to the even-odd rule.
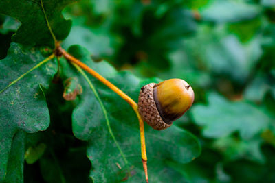
[[[160,114],[155,105],[153,96],[153,88],[157,85],[156,83],[150,83],[142,86],[140,90],[140,96],[138,97],[138,110],[140,115],[148,125],[151,125],[155,130],[164,130],[170,127],[172,123],[167,124],[162,120]]]

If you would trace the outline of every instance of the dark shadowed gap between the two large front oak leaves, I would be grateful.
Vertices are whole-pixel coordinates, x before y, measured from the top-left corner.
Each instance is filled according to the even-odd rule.
[[[25,182],[41,182],[42,178],[45,182],[61,183],[90,180],[91,163],[86,156],[87,143],[76,139],[72,133],[72,110],[77,99],[65,101],[63,90],[61,80],[58,83],[52,82],[46,90],[50,127],[43,132],[28,134],[30,144],[26,147],[28,149],[45,143],[47,148],[38,162],[25,163]]]

